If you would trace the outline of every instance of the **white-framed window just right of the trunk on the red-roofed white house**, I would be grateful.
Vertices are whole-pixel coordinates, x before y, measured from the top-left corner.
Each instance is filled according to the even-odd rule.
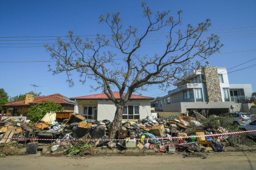
[[[139,119],[139,106],[128,105],[124,106],[122,119]]]

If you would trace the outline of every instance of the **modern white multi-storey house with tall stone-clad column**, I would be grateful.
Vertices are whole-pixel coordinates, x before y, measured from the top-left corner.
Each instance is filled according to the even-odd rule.
[[[187,112],[210,109],[214,114],[248,111],[242,106],[245,98],[254,98],[251,84],[229,84],[225,67],[204,66],[187,75],[188,82],[177,81],[176,89],[152,101],[156,110]]]

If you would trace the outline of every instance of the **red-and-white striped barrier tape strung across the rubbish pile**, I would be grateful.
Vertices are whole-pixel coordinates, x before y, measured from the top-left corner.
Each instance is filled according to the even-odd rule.
[[[178,136],[178,137],[164,137],[164,138],[144,138],[144,139],[182,139],[182,138],[194,138],[194,137],[204,137],[204,136],[221,136],[221,135],[233,135],[238,133],[248,133],[248,132],[256,132],[256,130],[251,131],[241,131],[241,132],[228,132],[228,133],[218,133],[218,134],[210,134],[210,135],[195,135],[195,136]],[[29,139],[29,138],[4,138],[0,139],[23,139],[23,140],[54,140],[54,141],[117,141],[117,140],[143,140],[143,139]]]

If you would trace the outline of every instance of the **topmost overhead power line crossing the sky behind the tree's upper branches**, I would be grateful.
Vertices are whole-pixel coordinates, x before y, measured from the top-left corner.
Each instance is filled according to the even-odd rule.
[[[254,28],[256,26],[248,26],[248,27],[236,27],[236,28],[217,28],[217,29],[208,29],[210,30],[225,30],[225,29],[237,29],[237,28]],[[239,30],[238,30],[239,31]],[[250,31],[250,30],[245,30],[245,31]],[[173,31],[174,33],[178,33],[179,31]],[[186,32],[186,31],[180,31],[180,32]],[[232,31],[228,31],[232,32]],[[148,34],[160,34],[160,33],[169,33],[169,32],[149,32]],[[137,34],[144,34],[144,33],[137,33]],[[74,35],[74,36],[79,36],[79,37],[86,37],[86,36],[97,36],[97,35]],[[105,35],[105,36],[112,36],[112,35]],[[67,37],[65,36],[13,36],[13,37],[0,37],[0,38],[44,38],[44,37]]]

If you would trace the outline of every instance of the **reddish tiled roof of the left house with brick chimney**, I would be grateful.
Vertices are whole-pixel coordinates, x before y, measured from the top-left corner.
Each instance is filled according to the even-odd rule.
[[[29,104],[25,104],[25,100],[23,100],[23,101],[16,101],[13,103],[4,104],[3,106],[13,106],[13,105],[28,105],[29,106],[30,104],[42,103],[42,101],[54,101],[55,103],[58,103],[58,104],[74,104],[74,103],[65,101],[62,98],[68,99],[68,97],[57,93],[57,94],[51,94],[48,96],[35,97],[34,101],[30,102]]]

